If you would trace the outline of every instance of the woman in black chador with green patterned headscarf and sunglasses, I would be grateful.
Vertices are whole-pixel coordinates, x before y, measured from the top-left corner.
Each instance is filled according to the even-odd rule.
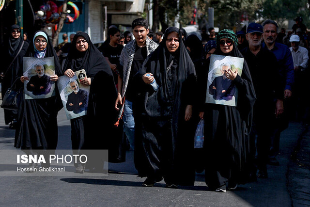
[[[237,48],[237,38],[232,30],[222,30],[217,35],[217,55],[243,58]],[[210,58],[205,67],[209,68]],[[205,103],[207,73],[200,81],[203,89],[200,103]],[[242,75],[231,69],[225,72],[238,89],[237,106],[205,104],[205,111],[200,113],[205,119],[205,182],[210,189],[226,192],[226,184],[230,190],[237,184],[249,181],[249,132],[252,124],[253,105],[256,99],[252,79],[246,61]]]

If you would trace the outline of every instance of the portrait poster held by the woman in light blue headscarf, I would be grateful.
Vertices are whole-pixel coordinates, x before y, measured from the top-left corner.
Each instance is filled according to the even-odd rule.
[[[55,81],[50,77],[55,75],[54,57],[23,58],[25,99],[49,98],[55,96]]]

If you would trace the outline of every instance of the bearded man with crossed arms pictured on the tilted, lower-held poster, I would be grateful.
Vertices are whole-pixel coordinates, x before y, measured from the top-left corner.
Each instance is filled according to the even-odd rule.
[[[78,82],[76,80],[71,80],[69,82],[69,87],[71,88],[72,93],[68,96],[68,101],[66,103],[67,110],[73,111],[76,114],[87,110],[88,105],[87,91],[79,89]]]

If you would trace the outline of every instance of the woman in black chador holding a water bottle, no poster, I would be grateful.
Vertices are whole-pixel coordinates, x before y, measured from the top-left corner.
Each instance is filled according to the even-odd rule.
[[[134,107],[135,166],[140,176],[147,176],[142,186],[153,186],[162,178],[170,188],[193,185],[195,128],[191,116],[196,73],[178,28],[166,30],[135,78],[144,90],[138,91],[141,95]],[[157,90],[150,84],[154,79]]]

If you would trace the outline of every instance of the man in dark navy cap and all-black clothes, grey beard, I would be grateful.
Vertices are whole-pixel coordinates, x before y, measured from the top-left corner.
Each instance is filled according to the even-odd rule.
[[[253,124],[250,134],[251,159],[255,159],[255,137],[257,135],[258,177],[267,178],[267,161],[272,134],[272,122],[275,117],[274,99],[283,99],[280,86],[276,56],[261,46],[263,27],[257,23],[248,25],[246,38],[248,47],[241,53],[247,61],[251,73],[256,102],[253,111]],[[262,78],[262,74],[265,74]],[[275,93],[274,93],[275,92]],[[279,114],[276,114],[279,115]],[[256,167],[253,166],[252,178],[256,178]]]

